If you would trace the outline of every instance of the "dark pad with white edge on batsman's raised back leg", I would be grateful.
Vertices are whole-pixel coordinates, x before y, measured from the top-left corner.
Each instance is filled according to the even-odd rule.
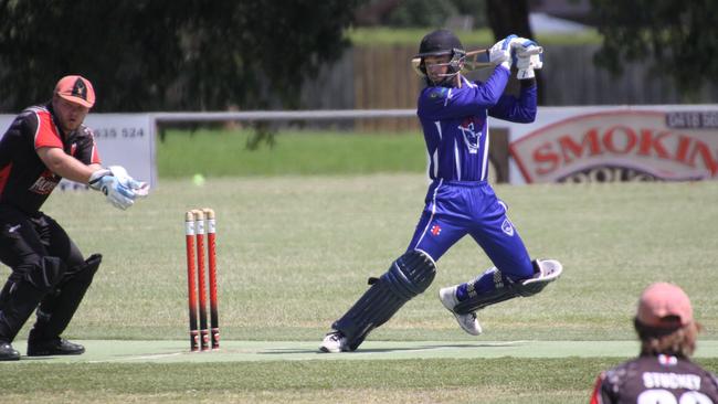
[[[494,290],[477,294],[460,301],[454,307],[454,311],[458,315],[468,315],[486,306],[496,305],[515,297],[534,296],[543,290],[548,284],[558,279],[563,272],[563,266],[556,259],[535,259],[532,264],[535,272],[532,277],[514,281],[499,273],[503,281]]]

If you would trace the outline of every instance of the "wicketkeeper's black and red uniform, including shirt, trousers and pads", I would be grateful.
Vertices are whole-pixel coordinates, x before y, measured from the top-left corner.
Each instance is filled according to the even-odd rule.
[[[57,338],[102,259],[83,259],[62,226],[40,211],[62,179],[40,159],[43,147],[99,163],[92,131],[81,126],[65,134],[51,103],[23,110],[0,139],[0,262],[12,269],[0,291],[0,341],[11,342],[38,305],[31,338]]]

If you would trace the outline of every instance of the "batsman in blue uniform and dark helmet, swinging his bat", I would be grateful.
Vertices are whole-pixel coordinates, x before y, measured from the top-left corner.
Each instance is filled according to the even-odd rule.
[[[374,328],[387,322],[406,301],[423,293],[436,274],[436,262],[469,235],[494,267],[464,284],[439,291],[441,302],[462,329],[478,336],[476,311],[518,296],[532,296],[557,279],[555,259],[531,259],[507,205],[487,182],[488,117],[531,123],[537,111],[535,68],[540,68],[536,42],[510,35],[488,52],[494,72],[485,83],[471,82],[461,71],[466,52],[447,30],[423,38],[420,72],[426,87],[416,115],[429,156],[431,183],[409,247],[341,318],[319,348],[323,352],[356,350]],[[504,94],[516,57],[520,94]]]

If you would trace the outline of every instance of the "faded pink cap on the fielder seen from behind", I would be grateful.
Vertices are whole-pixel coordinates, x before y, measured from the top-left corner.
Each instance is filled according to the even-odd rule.
[[[641,295],[636,320],[655,328],[685,327],[693,322],[690,299],[676,285],[653,284]]]

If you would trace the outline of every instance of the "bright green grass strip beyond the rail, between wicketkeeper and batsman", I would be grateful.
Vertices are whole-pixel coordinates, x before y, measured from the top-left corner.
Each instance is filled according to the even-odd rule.
[[[423,172],[419,132],[327,132],[283,130],[275,145],[247,150],[251,130],[168,130],[157,145],[162,178]]]

